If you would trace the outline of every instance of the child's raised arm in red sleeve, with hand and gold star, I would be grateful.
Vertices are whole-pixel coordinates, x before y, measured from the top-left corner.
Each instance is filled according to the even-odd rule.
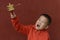
[[[7,8],[8,8],[8,11],[10,12],[11,22],[12,22],[12,25],[14,26],[14,28],[18,32],[22,32],[24,34],[28,34],[32,25],[25,26],[25,25],[19,23],[19,19],[16,16],[16,14],[14,13],[14,5],[13,4],[9,3]]]

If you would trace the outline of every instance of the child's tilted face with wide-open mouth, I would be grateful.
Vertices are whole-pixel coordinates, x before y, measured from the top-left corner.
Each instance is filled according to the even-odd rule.
[[[48,28],[48,19],[44,16],[40,16],[40,18],[36,21],[35,28],[37,30],[43,30]]]

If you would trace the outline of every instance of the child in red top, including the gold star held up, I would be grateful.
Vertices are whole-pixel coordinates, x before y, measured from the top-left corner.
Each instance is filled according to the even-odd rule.
[[[11,22],[18,32],[22,32],[28,36],[28,40],[50,40],[48,26],[51,24],[51,18],[47,14],[41,14],[35,25],[23,25],[19,23],[16,14],[13,12],[12,4],[8,5]]]

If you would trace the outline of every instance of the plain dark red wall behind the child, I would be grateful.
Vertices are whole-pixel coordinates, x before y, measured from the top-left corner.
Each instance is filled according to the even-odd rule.
[[[15,5],[15,13],[22,24],[34,24],[41,13],[52,17],[49,27],[51,40],[60,40],[60,0],[0,0],[0,40],[26,40],[27,36],[18,33],[10,22],[6,5]],[[21,5],[16,6],[21,3]]]

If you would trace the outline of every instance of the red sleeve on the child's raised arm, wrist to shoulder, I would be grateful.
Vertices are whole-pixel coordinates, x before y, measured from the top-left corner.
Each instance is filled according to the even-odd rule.
[[[18,17],[15,17],[14,19],[11,19],[12,25],[13,27],[18,31],[18,32],[22,32],[23,34],[28,34],[31,26],[32,25],[23,25],[19,23]]]

